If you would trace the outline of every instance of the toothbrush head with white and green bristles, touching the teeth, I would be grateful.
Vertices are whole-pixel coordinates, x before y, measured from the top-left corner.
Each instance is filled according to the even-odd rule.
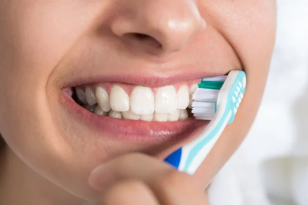
[[[203,78],[199,88],[192,95],[192,114],[196,119],[212,120],[218,107],[232,111],[229,124],[244,97],[246,74],[244,71],[230,71],[226,76]]]

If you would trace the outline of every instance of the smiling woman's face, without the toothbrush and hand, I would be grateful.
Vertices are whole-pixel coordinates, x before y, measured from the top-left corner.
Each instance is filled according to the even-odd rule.
[[[275,17],[274,0],[0,0],[0,132],[31,169],[88,198],[99,163],[134,151],[163,158],[197,136],[206,122],[181,119],[199,78],[244,70],[236,120],[200,174],[209,180],[252,125]],[[71,87],[80,105],[118,112],[88,112]]]

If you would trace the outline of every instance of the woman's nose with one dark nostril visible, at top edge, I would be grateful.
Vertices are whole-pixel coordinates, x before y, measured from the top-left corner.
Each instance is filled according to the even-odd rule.
[[[206,27],[196,0],[122,0],[112,32],[134,46],[178,52]],[[140,44],[141,43],[141,44]]]

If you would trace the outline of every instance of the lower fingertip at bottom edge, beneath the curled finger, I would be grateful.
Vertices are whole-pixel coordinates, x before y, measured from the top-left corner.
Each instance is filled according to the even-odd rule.
[[[124,180],[115,183],[95,204],[159,205],[151,189],[141,181]]]

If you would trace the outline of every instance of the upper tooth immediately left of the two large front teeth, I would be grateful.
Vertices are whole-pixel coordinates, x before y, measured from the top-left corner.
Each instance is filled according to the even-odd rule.
[[[110,92],[111,109],[118,112],[129,110],[129,97],[120,86],[113,86]]]

